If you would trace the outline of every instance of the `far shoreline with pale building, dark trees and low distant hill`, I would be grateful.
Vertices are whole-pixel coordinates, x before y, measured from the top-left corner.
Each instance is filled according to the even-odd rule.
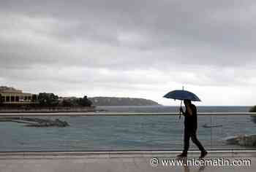
[[[1,106],[158,106],[159,103],[144,98],[116,97],[59,97],[53,93],[23,93],[14,87],[0,86]]]

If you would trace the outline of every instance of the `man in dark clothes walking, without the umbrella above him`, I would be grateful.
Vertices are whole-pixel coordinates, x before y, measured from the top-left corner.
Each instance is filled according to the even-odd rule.
[[[200,158],[207,155],[206,149],[200,144],[197,139],[197,108],[190,100],[184,100],[186,111],[184,112],[182,108],[180,111],[184,114],[184,150],[177,157],[187,157],[187,151],[189,150],[189,138],[192,139],[193,143],[197,145],[198,149],[201,151]]]

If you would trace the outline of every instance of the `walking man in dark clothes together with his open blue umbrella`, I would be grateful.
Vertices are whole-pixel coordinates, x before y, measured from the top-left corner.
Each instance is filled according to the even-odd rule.
[[[165,98],[172,98],[174,100],[181,100],[184,101],[184,105],[186,107],[186,110],[182,109],[180,107],[179,113],[180,117],[181,114],[184,115],[184,149],[183,152],[180,155],[177,155],[177,157],[187,157],[187,152],[189,150],[189,139],[191,138],[193,143],[197,145],[198,149],[200,149],[201,154],[200,158],[203,158],[207,155],[206,149],[204,149],[203,145],[198,141],[197,139],[197,108],[194,104],[191,103],[191,101],[200,101],[200,98],[197,97],[194,93],[191,93],[187,90],[184,90],[184,87],[182,90],[173,90],[166,95],[164,95]]]

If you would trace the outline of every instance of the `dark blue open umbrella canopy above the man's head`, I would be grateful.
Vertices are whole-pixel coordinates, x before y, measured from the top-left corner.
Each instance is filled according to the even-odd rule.
[[[190,100],[190,101],[201,101],[200,98],[197,97],[194,93],[191,93],[187,90],[173,90],[166,95],[164,95],[164,98],[172,98],[174,100]]]

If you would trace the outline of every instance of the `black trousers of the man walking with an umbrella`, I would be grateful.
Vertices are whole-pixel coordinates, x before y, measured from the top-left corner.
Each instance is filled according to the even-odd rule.
[[[197,139],[197,129],[196,128],[185,128],[184,129],[184,153],[187,153],[189,150],[189,138],[192,139],[193,143],[197,145],[198,149],[201,152],[205,151],[206,149],[203,148],[203,145]]]

